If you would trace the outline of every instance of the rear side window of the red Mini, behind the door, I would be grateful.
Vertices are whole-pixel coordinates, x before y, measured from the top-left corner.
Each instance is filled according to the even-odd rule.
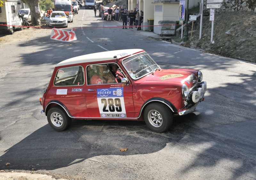
[[[58,69],[55,79],[55,86],[83,86],[84,68],[82,66],[72,66]]]

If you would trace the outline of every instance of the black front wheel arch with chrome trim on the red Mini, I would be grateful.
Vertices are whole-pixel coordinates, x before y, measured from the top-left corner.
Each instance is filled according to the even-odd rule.
[[[145,108],[152,103],[160,103],[160,104],[164,104],[166,105],[168,108],[170,108],[170,110],[172,111],[172,113],[174,112],[178,112],[178,110],[176,109],[176,107],[168,100],[161,98],[161,97],[153,97],[151,99],[148,99],[142,106],[140,109],[140,115],[138,117],[138,119],[141,119],[143,117],[144,114],[144,110]],[[142,114],[142,116],[141,116]]]

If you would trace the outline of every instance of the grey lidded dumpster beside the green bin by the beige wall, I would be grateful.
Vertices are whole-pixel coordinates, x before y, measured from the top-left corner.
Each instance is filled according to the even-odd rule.
[[[163,35],[176,35],[176,22],[175,21],[158,21],[160,36]]]

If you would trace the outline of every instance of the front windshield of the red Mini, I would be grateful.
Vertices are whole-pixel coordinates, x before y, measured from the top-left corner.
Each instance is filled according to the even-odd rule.
[[[147,53],[137,54],[125,59],[122,64],[132,79],[139,79],[160,68]]]

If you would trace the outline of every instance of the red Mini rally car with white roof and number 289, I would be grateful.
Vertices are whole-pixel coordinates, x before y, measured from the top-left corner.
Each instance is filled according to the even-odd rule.
[[[107,51],[58,63],[39,100],[57,131],[72,119],[111,119],[145,120],[161,133],[204,101],[202,80],[198,70],[161,69],[142,49]]]

